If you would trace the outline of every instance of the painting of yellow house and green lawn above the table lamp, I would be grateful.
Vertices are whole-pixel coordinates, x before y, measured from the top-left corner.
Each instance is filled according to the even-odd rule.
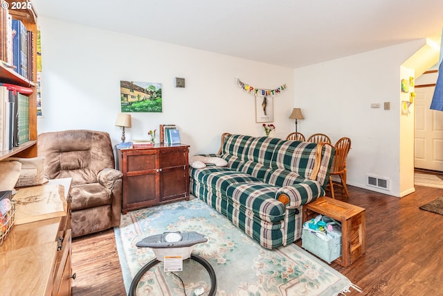
[[[161,83],[120,80],[121,112],[162,112]]]

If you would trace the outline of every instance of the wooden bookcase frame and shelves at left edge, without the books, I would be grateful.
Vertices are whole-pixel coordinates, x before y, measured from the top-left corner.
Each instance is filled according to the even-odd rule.
[[[12,3],[17,1],[6,0],[9,3],[9,14],[12,19],[21,21],[28,31],[33,32],[32,42],[32,55],[30,58],[33,60],[32,69],[30,69],[29,78],[25,78],[19,75],[14,69],[10,69],[3,62],[0,62],[0,82],[10,83],[12,85],[19,85],[22,87],[30,87],[33,89],[33,93],[29,97],[29,139],[26,143],[21,144],[19,147],[15,147],[12,150],[0,151],[0,160],[6,157],[36,157],[37,156],[37,13],[30,3],[26,5],[26,8],[11,9]],[[3,8],[0,8],[3,9]],[[1,31],[2,42],[5,42],[5,31]],[[0,59],[4,57],[1,56]]]

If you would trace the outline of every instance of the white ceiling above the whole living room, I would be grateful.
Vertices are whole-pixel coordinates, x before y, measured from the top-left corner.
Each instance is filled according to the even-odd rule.
[[[442,0],[33,0],[39,17],[284,67],[442,35]],[[99,37],[98,37],[99,38]]]

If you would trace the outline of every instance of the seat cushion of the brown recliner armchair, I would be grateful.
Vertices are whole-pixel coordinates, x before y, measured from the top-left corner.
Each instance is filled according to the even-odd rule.
[[[73,185],[71,210],[88,209],[111,204],[111,190],[98,183]]]

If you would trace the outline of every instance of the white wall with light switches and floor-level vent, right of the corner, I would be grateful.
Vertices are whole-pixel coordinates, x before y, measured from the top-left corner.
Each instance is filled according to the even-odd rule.
[[[300,132],[323,132],[333,142],[352,140],[348,184],[401,195],[400,66],[425,43],[408,42],[294,70],[294,105],[305,115]],[[390,102],[390,110],[383,110],[383,102]],[[371,103],[380,108],[371,109]],[[388,177],[390,190],[367,186],[366,173]]]

